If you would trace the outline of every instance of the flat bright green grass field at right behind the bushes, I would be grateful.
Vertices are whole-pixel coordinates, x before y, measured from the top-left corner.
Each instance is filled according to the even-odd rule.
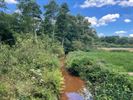
[[[133,53],[132,52],[111,52],[111,51],[94,51],[88,52],[88,56],[94,61],[102,61],[111,64],[113,70],[120,72],[133,72]],[[113,66],[114,65],[114,66]],[[108,66],[110,67],[110,65]]]

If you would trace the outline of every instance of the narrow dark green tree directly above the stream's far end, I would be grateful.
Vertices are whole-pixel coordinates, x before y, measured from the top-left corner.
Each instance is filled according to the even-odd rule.
[[[57,26],[56,36],[58,40],[61,41],[61,44],[63,47],[64,47],[65,38],[69,30],[68,12],[69,12],[68,5],[66,3],[62,4],[59,9],[57,22],[56,22],[56,26]]]

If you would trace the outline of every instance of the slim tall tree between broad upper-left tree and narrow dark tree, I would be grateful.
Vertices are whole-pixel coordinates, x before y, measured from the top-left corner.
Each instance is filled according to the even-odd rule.
[[[44,9],[45,9],[44,13],[45,19],[43,22],[44,33],[48,34],[54,40],[55,22],[57,20],[58,4],[54,0],[51,0],[48,5],[44,6]]]

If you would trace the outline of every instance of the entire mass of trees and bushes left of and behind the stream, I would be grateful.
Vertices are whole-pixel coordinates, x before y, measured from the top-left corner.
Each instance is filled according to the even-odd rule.
[[[17,12],[6,13],[0,1],[0,99],[57,100],[63,80],[58,58],[89,50],[96,32],[66,3],[51,0],[42,10],[36,0],[17,2]]]

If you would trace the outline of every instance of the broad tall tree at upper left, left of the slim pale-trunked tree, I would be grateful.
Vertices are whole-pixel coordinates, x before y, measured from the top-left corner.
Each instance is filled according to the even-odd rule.
[[[40,21],[41,10],[35,0],[19,0],[17,9],[20,13],[21,31],[23,33],[32,32],[36,35]]]

